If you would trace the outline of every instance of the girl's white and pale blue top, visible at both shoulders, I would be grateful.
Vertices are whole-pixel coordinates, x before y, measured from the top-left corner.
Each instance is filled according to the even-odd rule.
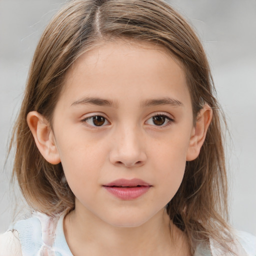
[[[0,256],[72,256],[67,245],[63,218],[35,213],[19,220],[0,235]],[[256,256],[256,237],[234,231],[237,240],[230,246],[238,256]],[[209,246],[197,246],[194,256],[227,256],[210,240]]]

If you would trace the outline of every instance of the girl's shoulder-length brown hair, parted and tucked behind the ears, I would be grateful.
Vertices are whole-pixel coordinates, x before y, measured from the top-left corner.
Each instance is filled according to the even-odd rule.
[[[61,163],[52,165],[39,153],[26,115],[36,110],[51,121],[66,70],[86,50],[116,38],[156,43],[182,64],[194,119],[206,102],[213,117],[199,156],[186,163],[182,183],[167,204],[170,219],[196,242],[214,239],[226,248],[227,184],[220,110],[203,48],[189,26],[161,0],[73,0],[51,20],[34,53],[25,95],[14,126],[13,176],[35,210],[54,215],[74,208],[74,195]],[[228,249],[228,248],[226,248]]]

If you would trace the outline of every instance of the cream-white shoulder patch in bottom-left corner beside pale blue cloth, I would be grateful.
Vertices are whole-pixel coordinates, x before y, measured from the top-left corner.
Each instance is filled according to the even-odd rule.
[[[21,244],[17,231],[0,234],[0,256],[21,256]]]

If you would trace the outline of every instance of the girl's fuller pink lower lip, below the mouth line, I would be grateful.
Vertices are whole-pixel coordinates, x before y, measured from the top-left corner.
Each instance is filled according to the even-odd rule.
[[[135,186],[135,187],[121,187],[121,186],[103,186],[108,192],[122,200],[132,200],[141,196],[148,191],[150,186]]]

